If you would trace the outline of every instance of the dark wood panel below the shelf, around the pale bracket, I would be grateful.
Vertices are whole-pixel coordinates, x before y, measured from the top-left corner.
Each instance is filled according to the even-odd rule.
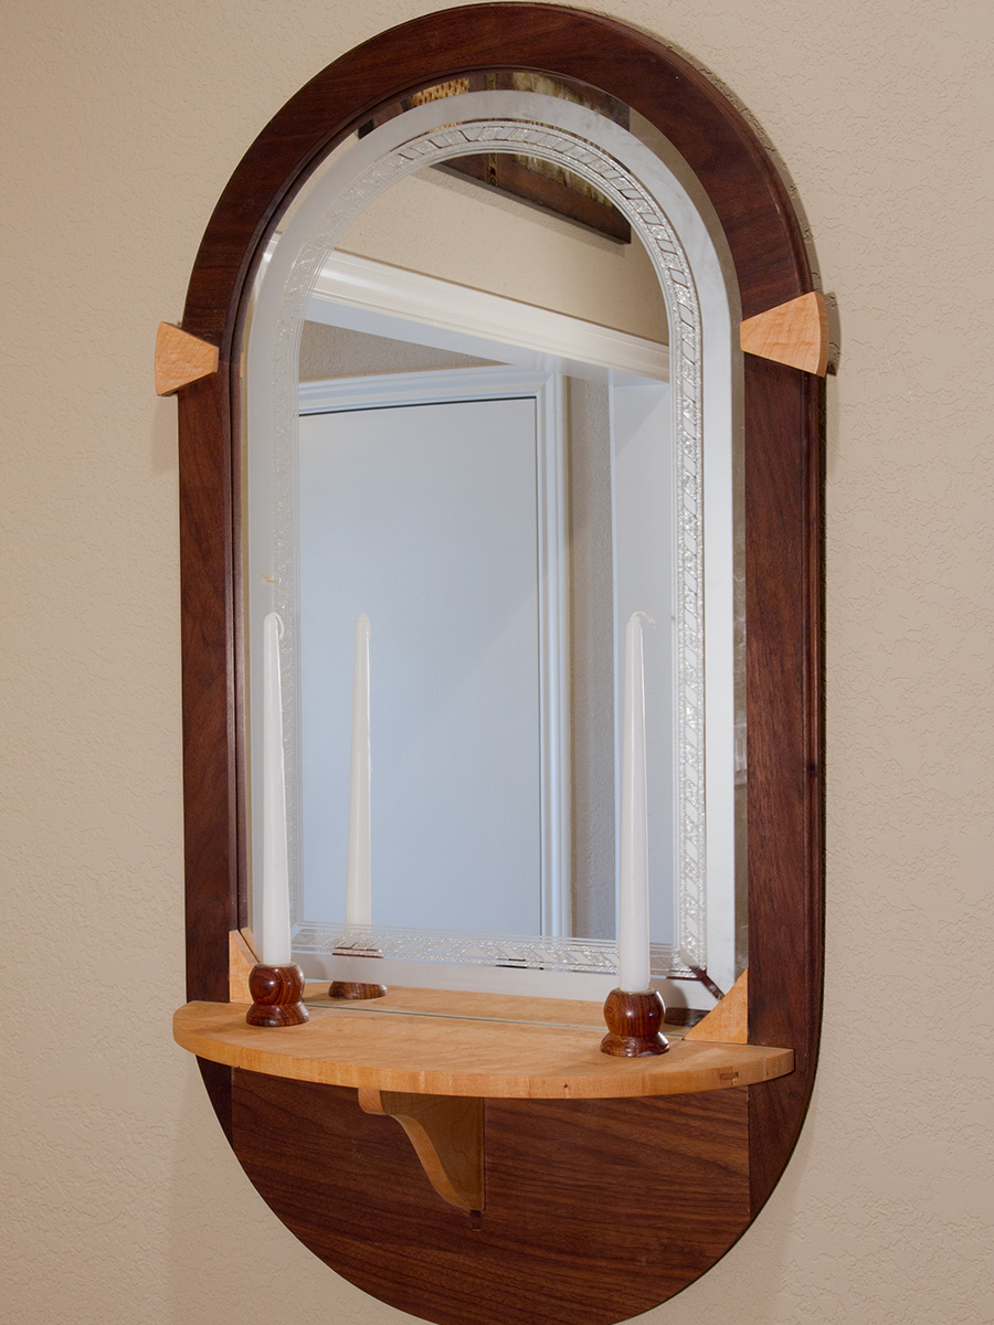
[[[232,1143],[278,1218],[366,1292],[437,1325],[612,1325],[749,1223],[746,1089],[488,1100],[486,1208],[429,1187],[354,1090],[232,1073]]]

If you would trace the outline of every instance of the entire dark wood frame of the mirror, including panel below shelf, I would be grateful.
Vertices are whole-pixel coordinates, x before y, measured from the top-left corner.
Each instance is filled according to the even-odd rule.
[[[249,281],[294,188],[378,109],[473,72],[530,69],[626,101],[717,212],[742,317],[811,290],[787,192],[742,115],[685,60],[598,15],[448,9],[313,78],[249,148],[209,221],[183,330],[220,371],[179,392],[188,998],[228,1000],[245,922],[240,722],[239,358]],[[486,1208],[431,1191],[399,1128],[338,1086],[201,1060],[252,1182],[318,1256],[441,1325],[607,1325],[737,1240],[779,1178],[815,1069],[822,1000],[822,384],[745,355],[749,1039],[795,1051],[758,1086],[649,1100],[486,1101]],[[266,1032],[292,1035],[292,1031]]]

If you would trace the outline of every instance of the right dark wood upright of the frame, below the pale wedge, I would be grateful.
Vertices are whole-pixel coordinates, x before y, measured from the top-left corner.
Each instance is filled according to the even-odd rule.
[[[757,1210],[801,1130],[822,1019],[822,400],[823,379],[746,356],[749,1041],[797,1055],[790,1085],[750,1100]]]

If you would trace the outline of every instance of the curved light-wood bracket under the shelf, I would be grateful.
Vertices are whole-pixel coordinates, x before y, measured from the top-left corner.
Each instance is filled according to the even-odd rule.
[[[484,1101],[470,1096],[359,1089],[359,1108],[396,1118],[443,1200],[484,1208]]]

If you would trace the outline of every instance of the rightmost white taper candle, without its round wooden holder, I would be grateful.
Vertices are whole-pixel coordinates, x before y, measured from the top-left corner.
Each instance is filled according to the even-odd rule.
[[[618,986],[630,994],[641,994],[649,987],[649,833],[641,649],[644,616],[644,612],[632,612],[624,632]]]

